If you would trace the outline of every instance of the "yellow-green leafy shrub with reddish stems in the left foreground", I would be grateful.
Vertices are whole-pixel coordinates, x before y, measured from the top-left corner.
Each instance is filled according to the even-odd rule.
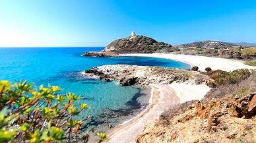
[[[78,138],[82,121],[74,120],[73,116],[88,105],[80,103],[76,107],[79,96],[63,96],[57,94],[59,91],[58,86],[34,88],[27,81],[12,85],[1,80],[0,142],[72,142],[70,138]]]

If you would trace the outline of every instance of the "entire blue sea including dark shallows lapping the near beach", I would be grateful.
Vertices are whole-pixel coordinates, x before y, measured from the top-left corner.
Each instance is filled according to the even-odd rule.
[[[189,69],[179,61],[152,57],[82,57],[86,51],[101,51],[104,47],[1,47],[0,80],[28,80],[36,86],[60,86],[62,94],[73,92],[89,108],[77,118],[90,115],[84,130],[112,128],[134,117],[146,106],[150,89],[142,86],[120,86],[118,81],[104,82],[86,78],[82,72],[101,65],[127,64]],[[104,129],[102,129],[104,130]],[[106,129],[105,129],[106,130]]]

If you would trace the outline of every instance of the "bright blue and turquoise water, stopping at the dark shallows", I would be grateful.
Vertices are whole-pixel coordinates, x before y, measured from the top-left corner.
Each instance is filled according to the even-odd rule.
[[[91,100],[90,114],[104,109],[121,109],[139,92],[135,86],[122,87],[116,82],[84,79],[79,72],[110,64],[150,65],[189,68],[189,65],[150,57],[81,57],[85,51],[100,51],[104,47],[0,48],[0,80],[27,79],[36,85],[57,85],[63,92],[74,92]]]

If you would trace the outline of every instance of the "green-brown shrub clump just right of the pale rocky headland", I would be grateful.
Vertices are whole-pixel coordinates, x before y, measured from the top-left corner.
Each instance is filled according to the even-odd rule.
[[[237,84],[241,80],[248,78],[250,75],[251,72],[248,69],[238,69],[232,72],[222,72],[213,82],[209,82],[208,86],[216,87],[225,84]]]

